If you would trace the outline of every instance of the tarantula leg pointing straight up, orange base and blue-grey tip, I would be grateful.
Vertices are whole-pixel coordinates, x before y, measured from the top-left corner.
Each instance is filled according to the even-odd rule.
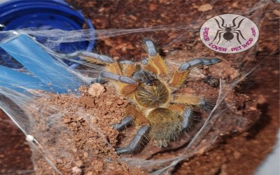
[[[148,54],[148,59],[144,59],[144,61],[141,62],[143,68],[158,76],[167,76],[167,66],[155,49],[153,41],[146,39],[144,41],[144,48]]]

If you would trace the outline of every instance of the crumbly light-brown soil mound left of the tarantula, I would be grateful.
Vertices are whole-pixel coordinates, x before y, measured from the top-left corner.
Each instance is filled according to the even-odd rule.
[[[120,162],[114,149],[118,132],[112,125],[120,122],[126,106],[115,90],[100,84],[80,87],[78,96],[46,93],[28,104],[36,121],[31,134],[62,174],[144,174]],[[34,151],[36,174],[52,174]]]

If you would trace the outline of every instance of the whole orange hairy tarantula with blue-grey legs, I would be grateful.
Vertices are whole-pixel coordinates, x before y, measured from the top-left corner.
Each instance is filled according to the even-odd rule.
[[[99,74],[97,82],[104,83],[103,78],[112,80],[120,94],[131,100],[125,118],[113,127],[123,130],[135,122],[139,130],[130,144],[116,149],[118,154],[137,151],[145,139],[154,141],[159,147],[177,139],[189,125],[191,106],[205,107],[207,102],[193,94],[172,92],[186,82],[190,66],[220,62],[218,58],[193,59],[172,71],[158,54],[153,41],[146,39],[144,48],[148,59],[142,62],[115,62],[105,55],[88,52],[69,55],[83,55],[88,62],[105,64],[106,70]]]

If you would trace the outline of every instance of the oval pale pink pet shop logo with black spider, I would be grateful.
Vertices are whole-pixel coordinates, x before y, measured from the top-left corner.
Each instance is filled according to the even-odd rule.
[[[258,41],[259,34],[253,21],[235,14],[210,18],[200,29],[200,38],[204,45],[223,53],[248,50]]]

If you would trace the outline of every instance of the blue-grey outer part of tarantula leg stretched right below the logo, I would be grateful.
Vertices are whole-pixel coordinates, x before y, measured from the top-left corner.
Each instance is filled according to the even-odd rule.
[[[190,62],[185,62],[179,66],[178,70],[179,71],[186,71],[190,68],[190,66],[195,66],[197,64],[202,64],[202,65],[211,65],[211,64],[216,64],[218,62],[221,62],[221,59],[218,58],[212,58],[212,59],[204,59],[204,58],[198,58],[198,59],[193,59]]]

